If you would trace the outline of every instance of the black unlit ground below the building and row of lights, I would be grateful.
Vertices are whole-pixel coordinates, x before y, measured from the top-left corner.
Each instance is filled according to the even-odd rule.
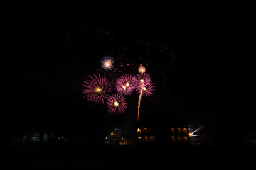
[[[0,169],[252,169],[255,145],[1,147]]]

